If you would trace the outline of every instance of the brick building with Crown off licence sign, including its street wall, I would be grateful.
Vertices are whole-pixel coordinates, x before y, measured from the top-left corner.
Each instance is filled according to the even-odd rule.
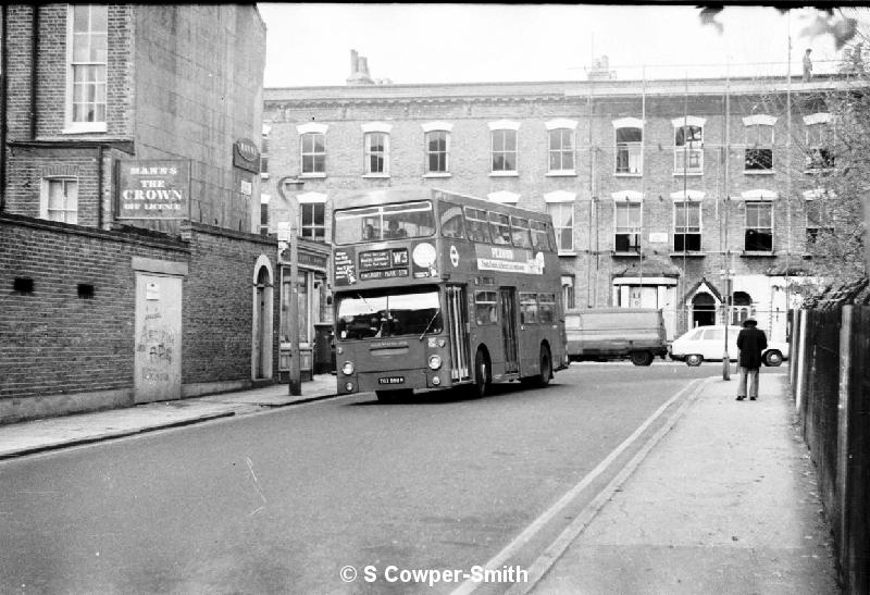
[[[257,9],[0,20],[0,423],[272,382]]]

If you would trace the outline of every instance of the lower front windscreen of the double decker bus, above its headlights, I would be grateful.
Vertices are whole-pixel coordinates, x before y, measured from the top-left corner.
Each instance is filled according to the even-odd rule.
[[[338,297],[336,334],[339,339],[435,335],[444,330],[438,290],[373,289]]]

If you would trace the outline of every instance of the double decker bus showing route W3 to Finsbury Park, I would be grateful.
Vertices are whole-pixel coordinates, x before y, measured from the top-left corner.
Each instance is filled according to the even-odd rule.
[[[333,211],[339,394],[539,386],[568,364],[550,216],[432,188],[382,188]]]

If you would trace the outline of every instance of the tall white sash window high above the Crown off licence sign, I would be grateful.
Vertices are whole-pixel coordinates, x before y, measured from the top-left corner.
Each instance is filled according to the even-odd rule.
[[[75,30],[75,12],[76,9],[87,8],[88,9],[88,30],[84,34],[76,33]],[[100,10],[104,11],[103,20],[105,22],[105,30],[97,30],[91,28],[94,23],[94,13],[92,11]],[[103,61],[99,60],[76,60],[75,59],[75,49],[76,42],[75,38],[77,35],[86,35],[88,37],[88,47],[92,47],[94,37],[95,36],[104,36],[104,51],[105,57]],[[107,121],[109,117],[109,7],[107,4],[69,4],[66,8],[66,89],[65,89],[65,98],[64,98],[64,129],[63,134],[79,134],[79,133],[104,133],[107,132]],[[97,120],[95,115],[95,120],[92,121],[76,121],[75,120],[75,96],[76,96],[76,87],[79,84],[76,80],[76,69],[77,67],[86,67],[96,69],[97,75],[100,73],[102,74],[102,79],[99,79],[97,76],[96,80],[86,80],[86,88],[94,86],[94,101],[88,101],[85,104],[91,104],[95,111],[99,111],[99,107],[102,107],[102,120]],[[102,87],[102,101],[99,101],[99,89],[100,86]]]

